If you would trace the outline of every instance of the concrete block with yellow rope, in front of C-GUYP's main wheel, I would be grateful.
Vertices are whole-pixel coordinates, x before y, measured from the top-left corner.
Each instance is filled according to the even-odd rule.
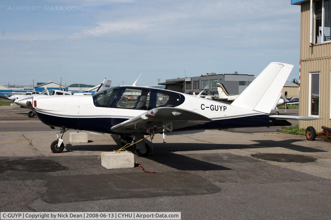
[[[101,165],[107,169],[134,167],[134,155],[129,152],[102,153]]]

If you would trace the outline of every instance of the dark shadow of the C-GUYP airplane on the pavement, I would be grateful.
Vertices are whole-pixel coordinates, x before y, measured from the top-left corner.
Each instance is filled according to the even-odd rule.
[[[226,149],[252,149],[252,148],[271,148],[271,147],[282,147],[290,150],[295,150],[299,152],[327,152],[325,150],[315,149],[311,147],[303,147],[292,144],[294,142],[300,141],[302,139],[288,139],[282,141],[273,140],[253,140],[258,142],[256,144],[210,144],[210,143],[154,143],[154,153],[145,158],[142,158],[142,163],[145,160],[152,160],[157,163],[178,169],[178,170],[231,170],[231,168],[217,165],[214,163],[209,163],[204,160],[195,159],[193,155],[191,157],[175,154],[178,151],[201,151],[201,150],[226,150]],[[149,142],[149,141],[146,141]],[[151,143],[149,143],[151,146]],[[109,152],[113,150],[118,150],[120,145],[74,145],[66,144],[65,153],[71,151],[102,151]],[[134,152],[133,147],[127,148],[128,151]],[[206,152],[208,153],[208,152]],[[280,152],[281,153],[281,152]],[[249,158],[249,157],[247,157]],[[139,161],[138,161],[139,162]],[[215,162],[218,163],[218,162]]]

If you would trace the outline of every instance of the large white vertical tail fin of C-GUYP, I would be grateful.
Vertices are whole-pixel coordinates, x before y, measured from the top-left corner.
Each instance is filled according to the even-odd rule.
[[[231,105],[270,113],[293,65],[272,62]]]

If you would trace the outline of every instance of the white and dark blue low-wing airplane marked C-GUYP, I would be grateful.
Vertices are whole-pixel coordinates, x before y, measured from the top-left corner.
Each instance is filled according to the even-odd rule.
[[[118,134],[122,142],[135,143],[155,133],[287,126],[291,123],[284,119],[316,120],[265,113],[278,102],[275,91],[280,92],[292,68],[290,64],[270,63],[231,105],[134,83],[102,89],[92,96],[33,97],[33,106],[40,121],[51,128],[60,127],[60,136],[51,144],[54,153],[63,151],[63,135],[70,128]],[[147,156],[150,151],[143,141],[135,144],[135,150],[139,156]]]

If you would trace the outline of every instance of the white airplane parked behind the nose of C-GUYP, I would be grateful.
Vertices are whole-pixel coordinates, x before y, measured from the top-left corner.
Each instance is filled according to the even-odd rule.
[[[99,91],[100,88],[110,88],[112,81],[108,80],[108,79],[104,79],[104,81],[100,84],[99,88],[97,89],[97,91]],[[80,92],[80,93],[71,93],[71,92],[66,92],[66,91],[62,91],[62,90],[49,90],[44,87],[45,90],[40,93],[40,94],[34,94],[33,96],[37,97],[44,97],[46,95],[91,95],[92,93],[87,93],[87,92]],[[25,96],[24,98],[20,98],[19,100],[16,99],[14,101],[15,103],[23,106],[24,108],[29,108],[32,111],[29,111],[28,116],[29,118],[33,118],[35,115],[35,112],[33,110],[33,105],[32,105],[32,95],[29,96]]]

